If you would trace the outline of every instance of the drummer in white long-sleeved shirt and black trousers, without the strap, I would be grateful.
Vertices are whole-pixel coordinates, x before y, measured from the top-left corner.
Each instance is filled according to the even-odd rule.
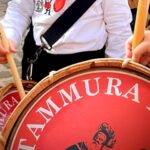
[[[49,1],[51,12],[45,14],[46,1],[11,0],[2,20],[9,40],[10,51],[16,52],[16,47],[20,45],[31,20],[35,43],[37,47],[41,47],[41,35],[73,2],[73,0]],[[125,56],[125,41],[132,34],[131,20],[132,15],[127,0],[95,1],[75,24],[52,45],[49,54],[42,50],[38,59],[32,61],[34,63],[32,80],[39,81],[52,70],[83,60],[101,57],[123,58]],[[26,61],[32,57],[31,55],[36,50],[30,49],[28,51],[25,54]],[[7,63],[5,58],[7,52],[8,50],[0,45],[1,64]],[[24,69],[23,65],[22,69],[26,74],[28,67]]]

